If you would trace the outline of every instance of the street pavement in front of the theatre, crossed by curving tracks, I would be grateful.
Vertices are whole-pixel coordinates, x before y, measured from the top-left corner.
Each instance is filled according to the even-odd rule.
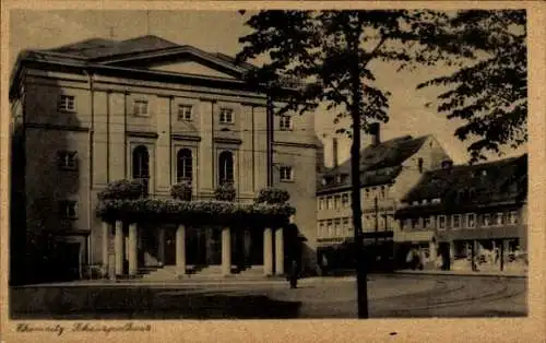
[[[13,319],[356,318],[353,276],[180,284],[66,284],[11,289]],[[526,279],[369,275],[370,318],[521,317]]]

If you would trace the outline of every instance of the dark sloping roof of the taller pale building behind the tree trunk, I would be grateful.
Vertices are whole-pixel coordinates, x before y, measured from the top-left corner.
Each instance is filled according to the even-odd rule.
[[[402,172],[402,164],[417,153],[428,138],[429,135],[418,138],[404,135],[377,145],[368,145],[361,150],[360,186],[384,185],[393,181]],[[325,170],[322,176],[332,181],[322,185],[322,180],[318,180],[318,193],[351,188],[351,158],[335,168]],[[336,181],[339,177],[341,180]]]

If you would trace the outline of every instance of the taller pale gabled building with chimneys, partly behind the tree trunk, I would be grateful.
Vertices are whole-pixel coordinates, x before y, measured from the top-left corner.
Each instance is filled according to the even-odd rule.
[[[360,199],[365,244],[378,238],[392,256],[399,237],[394,213],[400,200],[424,173],[440,167],[448,154],[432,135],[380,140],[373,127],[372,143],[360,152]],[[351,209],[351,159],[337,165],[337,142],[333,142],[333,167],[320,175],[317,186],[317,237],[319,262],[323,267],[351,264],[340,247],[354,237]],[[402,237],[404,239],[405,237]],[[335,253],[334,251],[339,251]],[[327,264],[327,265],[324,265]]]

